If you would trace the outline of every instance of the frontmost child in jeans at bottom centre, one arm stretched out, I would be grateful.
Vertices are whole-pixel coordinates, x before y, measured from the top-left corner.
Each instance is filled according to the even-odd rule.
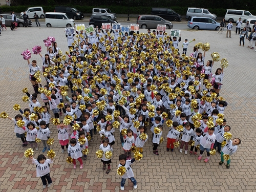
[[[133,169],[131,166],[135,162],[135,158],[131,160],[126,160],[126,155],[122,154],[122,155],[119,155],[119,162],[120,164],[118,165],[118,168],[123,166],[126,169],[126,172],[122,175],[120,189],[124,190],[124,184],[126,179],[130,179],[133,182],[133,188],[137,189],[137,181],[134,178]]]

